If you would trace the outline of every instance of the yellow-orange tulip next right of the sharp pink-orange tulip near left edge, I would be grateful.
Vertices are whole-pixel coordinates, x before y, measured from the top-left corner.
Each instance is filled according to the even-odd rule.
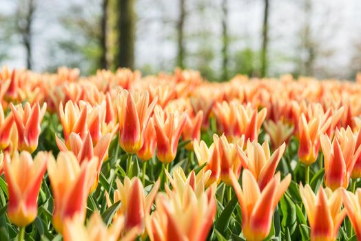
[[[78,133],[81,138],[85,138],[87,132],[87,105],[83,109],[72,101],[68,101],[63,108],[63,103],[59,104],[59,118],[63,125],[65,143],[68,146],[68,137],[70,133]]]

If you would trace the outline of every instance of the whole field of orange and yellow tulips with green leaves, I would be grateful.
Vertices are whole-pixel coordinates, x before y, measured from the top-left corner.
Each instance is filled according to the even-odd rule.
[[[361,76],[1,67],[0,101],[0,240],[361,240]]]

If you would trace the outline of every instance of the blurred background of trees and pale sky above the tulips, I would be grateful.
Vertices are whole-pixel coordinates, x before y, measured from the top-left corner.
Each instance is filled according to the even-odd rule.
[[[0,65],[353,79],[360,0],[0,0]]]

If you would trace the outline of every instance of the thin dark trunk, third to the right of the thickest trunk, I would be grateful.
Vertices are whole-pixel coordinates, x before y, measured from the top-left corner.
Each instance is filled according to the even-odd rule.
[[[262,57],[260,75],[265,77],[267,75],[267,47],[268,47],[268,23],[269,18],[269,0],[265,0],[265,8],[263,13],[263,28],[262,28]]]

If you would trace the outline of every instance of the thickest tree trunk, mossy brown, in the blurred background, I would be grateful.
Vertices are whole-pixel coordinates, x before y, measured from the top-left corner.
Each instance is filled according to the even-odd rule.
[[[116,67],[134,70],[135,0],[118,1],[118,53]]]

